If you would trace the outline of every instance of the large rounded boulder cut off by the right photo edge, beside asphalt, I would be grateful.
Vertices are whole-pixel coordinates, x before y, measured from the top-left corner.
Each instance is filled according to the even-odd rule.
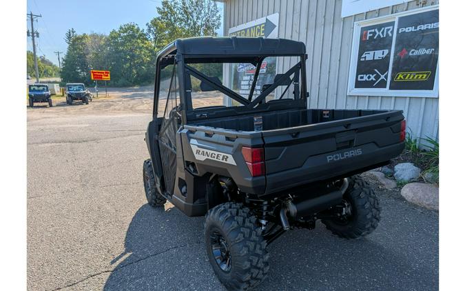
[[[439,188],[426,183],[409,183],[404,185],[400,194],[411,203],[424,208],[439,210]]]

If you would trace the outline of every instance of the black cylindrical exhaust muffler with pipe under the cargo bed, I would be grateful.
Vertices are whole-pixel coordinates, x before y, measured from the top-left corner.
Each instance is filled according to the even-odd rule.
[[[342,181],[340,190],[322,194],[312,199],[297,201],[296,203],[291,200],[285,201],[279,215],[282,229],[289,230],[291,228],[288,217],[294,219],[296,217],[305,217],[337,205],[342,201],[342,195],[347,191],[347,188],[349,188],[349,180],[346,178]]]

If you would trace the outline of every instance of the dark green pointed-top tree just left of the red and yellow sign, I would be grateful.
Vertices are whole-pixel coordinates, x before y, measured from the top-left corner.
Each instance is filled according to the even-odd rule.
[[[87,58],[88,39],[87,34],[72,37],[61,66],[63,82],[90,83],[90,65]]]

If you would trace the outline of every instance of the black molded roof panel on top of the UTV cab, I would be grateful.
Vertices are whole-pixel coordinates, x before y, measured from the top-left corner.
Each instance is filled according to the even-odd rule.
[[[301,41],[262,37],[192,37],[176,39],[161,50],[158,56],[176,53],[187,56],[282,56],[305,54],[305,45]]]

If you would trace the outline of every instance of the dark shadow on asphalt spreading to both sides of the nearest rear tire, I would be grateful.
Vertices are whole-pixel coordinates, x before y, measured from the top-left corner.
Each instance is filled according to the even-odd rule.
[[[351,241],[321,223],[287,232],[269,245],[271,268],[258,290],[437,290],[437,245],[415,245],[431,233],[390,225],[398,222]],[[176,208],[143,205],[117,261],[105,290],[223,290],[205,254],[203,218]]]

